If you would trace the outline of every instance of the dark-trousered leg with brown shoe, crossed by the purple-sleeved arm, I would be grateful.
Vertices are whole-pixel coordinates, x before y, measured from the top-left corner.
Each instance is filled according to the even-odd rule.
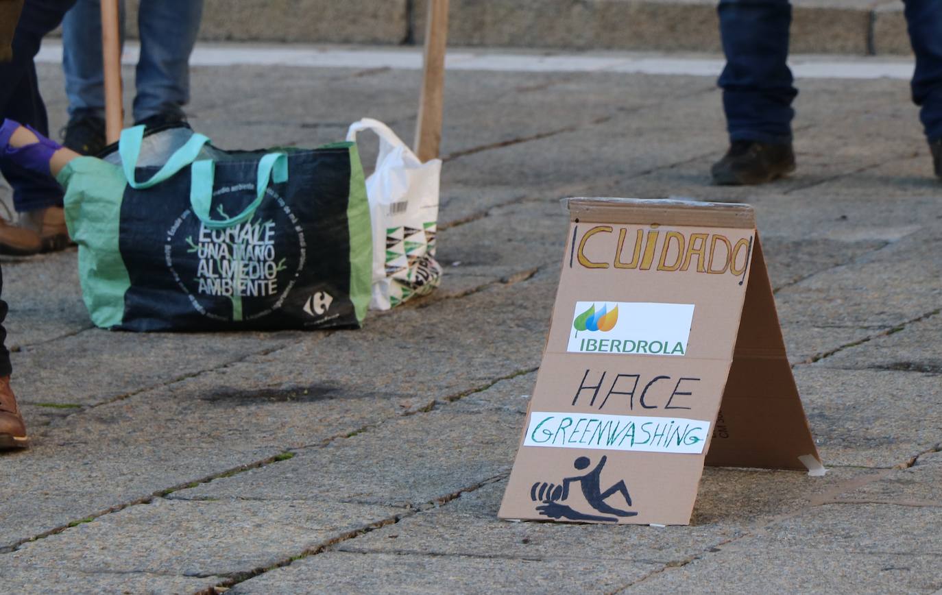
[[[48,136],[49,124],[33,58],[42,37],[55,29],[74,0],[26,0],[13,37],[13,57],[0,63],[0,119],[11,118]],[[7,159],[0,172],[13,187],[20,226],[0,224],[0,252],[28,254],[60,249],[68,243],[62,217],[62,190],[47,176],[36,175]]]

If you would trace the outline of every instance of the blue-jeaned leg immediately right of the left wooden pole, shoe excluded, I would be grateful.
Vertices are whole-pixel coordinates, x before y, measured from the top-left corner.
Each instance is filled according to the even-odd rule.
[[[142,0],[134,121],[182,121],[189,101],[189,55],[203,18],[203,0]]]

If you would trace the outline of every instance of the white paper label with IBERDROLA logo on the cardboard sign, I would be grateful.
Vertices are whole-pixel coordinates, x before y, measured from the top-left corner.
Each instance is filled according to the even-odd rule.
[[[692,320],[693,304],[577,301],[566,351],[682,356]]]

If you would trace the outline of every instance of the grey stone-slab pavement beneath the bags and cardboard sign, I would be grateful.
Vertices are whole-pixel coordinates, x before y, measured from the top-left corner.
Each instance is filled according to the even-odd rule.
[[[60,73],[41,79],[59,126]],[[409,138],[418,79],[201,67],[192,122],[230,148],[366,115]],[[0,590],[942,588],[942,184],[905,82],[801,88],[798,172],[719,188],[711,79],[450,72],[447,276],[363,330],[96,330],[74,250],[5,261],[33,447],[0,456]],[[691,526],[496,519],[572,195],[755,205],[826,476],[708,468]]]

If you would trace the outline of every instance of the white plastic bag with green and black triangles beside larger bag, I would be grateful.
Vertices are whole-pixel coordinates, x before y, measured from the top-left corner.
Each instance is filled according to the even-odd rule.
[[[435,261],[438,186],[442,160],[419,161],[382,121],[350,124],[347,140],[361,130],[380,137],[376,169],[366,178],[373,224],[373,296],[369,307],[389,310],[433,290],[442,279]]]

